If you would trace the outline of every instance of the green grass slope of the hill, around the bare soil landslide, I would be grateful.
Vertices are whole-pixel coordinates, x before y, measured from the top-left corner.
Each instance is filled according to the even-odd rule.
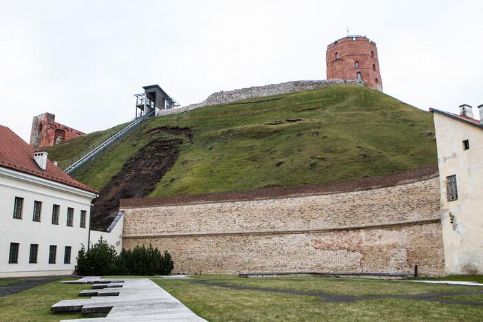
[[[425,136],[434,131],[431,114],[373,89],[333,85],[155,118],[76,178],[102,189],[140,147],[166,135],[157,127],[189,127],[193,140],[151,196],[329,183],[436,162],[436,143]],[[94,134],[50,152],[63,162]]]

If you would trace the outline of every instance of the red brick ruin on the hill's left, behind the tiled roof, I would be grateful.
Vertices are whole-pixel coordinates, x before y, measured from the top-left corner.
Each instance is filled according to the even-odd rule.
[[[34,116],[32,120],[30,145],[35,149],[43,149],[72,138],[77,138],[78,136],[83,136],[84,134],[84,132],[73,129],[72,127],[55,122],[54,114],[44,113]]]

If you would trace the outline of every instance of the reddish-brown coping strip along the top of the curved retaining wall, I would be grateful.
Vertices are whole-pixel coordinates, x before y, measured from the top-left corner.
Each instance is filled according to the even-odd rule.
[[[270,187],[253,191],[228,193],[201,193],[197,195],[173,195],[169,197],[133,198],[120,200],[120,208],[148,208],[155,206],[175,206],[181,204],[207,204],[214,202],[237,202],[247,200],[280,199],[305,195],[330,195],[369,189],[396,186],[428,180],[438,176],[438,164],[380,177],[334,182],[331,184],[308,184],[304,186]]]

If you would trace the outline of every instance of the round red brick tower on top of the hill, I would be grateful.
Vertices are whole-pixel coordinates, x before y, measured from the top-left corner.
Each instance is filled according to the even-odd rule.
[[[377,47],[365,36],[347,36],[327,46],[327,79],[362,79],[383,92]]]

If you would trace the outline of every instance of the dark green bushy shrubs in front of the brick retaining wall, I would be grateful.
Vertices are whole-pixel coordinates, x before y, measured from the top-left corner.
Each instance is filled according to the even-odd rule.
[[[87,251],[82,246],[78,253],[78,275],[169,275],[174,261],[167,251],[161,253],[153,246],[136,246],[116,253],[114,246],[102,237]]]

